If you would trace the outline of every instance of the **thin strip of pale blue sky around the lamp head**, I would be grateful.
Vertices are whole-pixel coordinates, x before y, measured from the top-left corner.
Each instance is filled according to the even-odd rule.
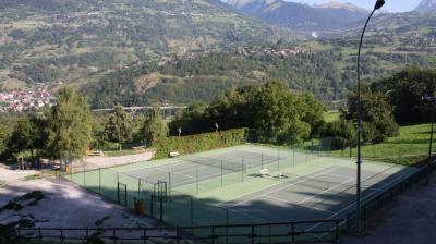
[[[287,0],[292,2],[302,2],[308,4],[316,4],[316,3],[326,3],[331,0]],[[365,9],[373,9],[376,0],[336,0],[340,2],[351,2],[359,7]],[[407,12],[412,11],[417,4],[420,4],[421,0],[385,0],[386,4],[383,7],[384,10],[389,12]]]

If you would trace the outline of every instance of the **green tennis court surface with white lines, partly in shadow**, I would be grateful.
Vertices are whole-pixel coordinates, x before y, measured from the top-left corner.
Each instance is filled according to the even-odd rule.
[[[269,175],[261,176],[261,169]],[[372,161],[362,169],[363,202],[415,172]],[[355,208],[355,176],[352,159],[258,145],[64,175],[130,208],[144,202],[147,215],[184,227],[344,218]],[[259,231],[280,234],[289,227]]]

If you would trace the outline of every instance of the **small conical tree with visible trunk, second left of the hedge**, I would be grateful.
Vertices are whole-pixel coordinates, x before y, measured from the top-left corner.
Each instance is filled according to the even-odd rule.
[[[116,106],[113,113],[110,114],[109,121],[105,125],[106,139],[120,145],[132,139],[132,119],[124,112],[121,105]]]

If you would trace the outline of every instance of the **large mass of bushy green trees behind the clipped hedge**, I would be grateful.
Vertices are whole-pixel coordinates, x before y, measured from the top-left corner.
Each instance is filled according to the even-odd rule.
[[[270,82],[263,87],[246,86],[218,97],[207,108],[191,107],[170,123],[184,134],[249,127],[261,142],[300,143],[318,133],[324,123],[325,106],[310,95],[295,95],[282,83]]]

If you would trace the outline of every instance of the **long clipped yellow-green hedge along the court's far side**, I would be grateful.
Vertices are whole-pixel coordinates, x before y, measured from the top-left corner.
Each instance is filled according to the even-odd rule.
[[[249,137],[249,130],[237,129],[214,133],[204,133],[190,136],[172,136],[156,141],[156,158],[168,158],[171,151],[179,151],[182,155],[198,151],[211,150],[223,147],[237,146],[245,143]]]

